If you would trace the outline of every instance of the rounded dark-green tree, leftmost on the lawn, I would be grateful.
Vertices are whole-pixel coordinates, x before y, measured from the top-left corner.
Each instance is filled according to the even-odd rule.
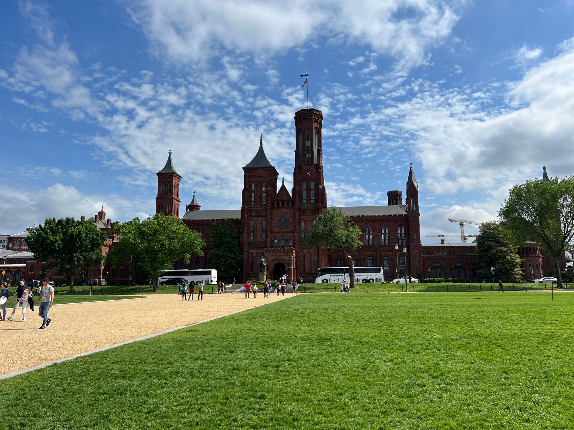
[[[101,265],[102,245],[107,234],[90,221],[74,218],[46,218],[44,225],[30,231],[26,244],[39,261],[46,261],[42,273],[57,267],[66,276],[73,291],[76,268]],[[95,257],[94,257],[95,256]],[[82,275],[80,275],[82,276]]]

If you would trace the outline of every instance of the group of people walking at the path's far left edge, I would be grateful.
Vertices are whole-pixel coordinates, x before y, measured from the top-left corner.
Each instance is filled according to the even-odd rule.
[[[6,282],[2,283],[0,298],[6,298],[5,300],[2,300],[4,303],[2,304],[0,321],[6,321],[6,319],[13,321],[16,311],[18,311],[18,308],[22,305],[21,321],[25,322],[28,316],[28,308],[33,311],[34,304],[36,303],[36,300],[34,300],[32,294],[30,294],[30,290],[25,286],[24,280],[20,281],[20,285],[16,288],[16,291],[12,296],[10,296],[10,288],[8,288],[8,284]],[[52,319],[48,318],[48,310],[52,307],[52,303],[54,302],[54,287],[50,285],[48,278],[42,279],[42,290],[38,297],[38,301],[40,301],[38,315],[43,319],[42,325],[39,328],[45,329],[52,322]],[[8,302],[14,302],[14,308],[12,309],[10,316],[6,318],[6,305]]]

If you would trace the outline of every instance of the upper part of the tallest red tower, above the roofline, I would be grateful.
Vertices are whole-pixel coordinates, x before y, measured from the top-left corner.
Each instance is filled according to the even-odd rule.
[[[321,148],[322,128],[321,111],[301,109],[295,112],[295,169],[292,196],[296,206],[311,206],[317,208],[317,212],[327,207]]]

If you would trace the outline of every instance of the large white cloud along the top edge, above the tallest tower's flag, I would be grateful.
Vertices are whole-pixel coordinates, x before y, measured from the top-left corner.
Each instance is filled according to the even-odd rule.
[[[312,13],[301,13],[307,9],[303,0],[144,0],[128,12],[153,52],[177,63],[204,62],[223,49],[274,54],[329,35],[392,56],[401,71],[427,62],[426,50],[445,40],[458,19],[439,0],[319,0]]]

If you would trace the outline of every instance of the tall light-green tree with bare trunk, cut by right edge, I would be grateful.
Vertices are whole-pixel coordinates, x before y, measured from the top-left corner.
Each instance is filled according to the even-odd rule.
[[[574,237],[574,176],[515,185],[498,211],[498,219],[518,243],[542,245],[554,258],[557,283],[562,287],[558,261]]]

